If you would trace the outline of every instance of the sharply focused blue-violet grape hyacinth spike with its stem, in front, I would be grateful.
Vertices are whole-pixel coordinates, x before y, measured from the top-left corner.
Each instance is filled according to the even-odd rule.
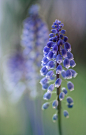
[[[41,75],[44,76],[40,81],[42,88],[47,86],[45,87],[47,92],[44,94],[43,99],[50,100],[52,94],[56,94],[56,99],[54,99],[53,102],[45,102],[42,109],[47,109],[52,102],[52,107],[57,110],[57,113],[53,115],[52,119],[53,121],[58,120],[60,135],[62,135],[61,102],[70,93],[70,91],[74,90],[74,84],[68,80],[76,77],[77,75],[75,70],[70,69],[71,67],[75,67],[76,63],[74,61],[73,54],[71,53],[71,45],[68,42],[68,37],[64,35],[66,30],[62,29],[63,26],[64,24],[59,20],[55,20],[53,23],[51,33],[49,34],[49,42],[43,49],[44,56],[40,71]],[[67,88],[61,86],[64,80],[67,81]],[[73,99],[68,96],[66,97],[66,100],[67,107],[72,108],[74,104]],[[68,118],[68,111],[64,110],[63,115]]]

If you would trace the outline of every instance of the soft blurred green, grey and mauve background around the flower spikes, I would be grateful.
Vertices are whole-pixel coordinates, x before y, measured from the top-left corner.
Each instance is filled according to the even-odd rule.
[[[63,135],[86,135],[85,0],[0,0],[0,135],[59,135],[58,124],[52,122],[55,110],[51,106],[46,111],[41,110],[42,95],[31,100],[26,92],[13,104],[3,82],[4,57],[20,43],[22,22],[28,8],[35,3],[40,4],[40,16],[48,24],[49,31],[55,19],[64,23],[77,63],[74,69],[78,76],[72,81],[75,90],[69,93],[74,99],[74,107],[67,109],[62,103],[62,111],[67,109],[70,116],[66,119],[62,114]]]

